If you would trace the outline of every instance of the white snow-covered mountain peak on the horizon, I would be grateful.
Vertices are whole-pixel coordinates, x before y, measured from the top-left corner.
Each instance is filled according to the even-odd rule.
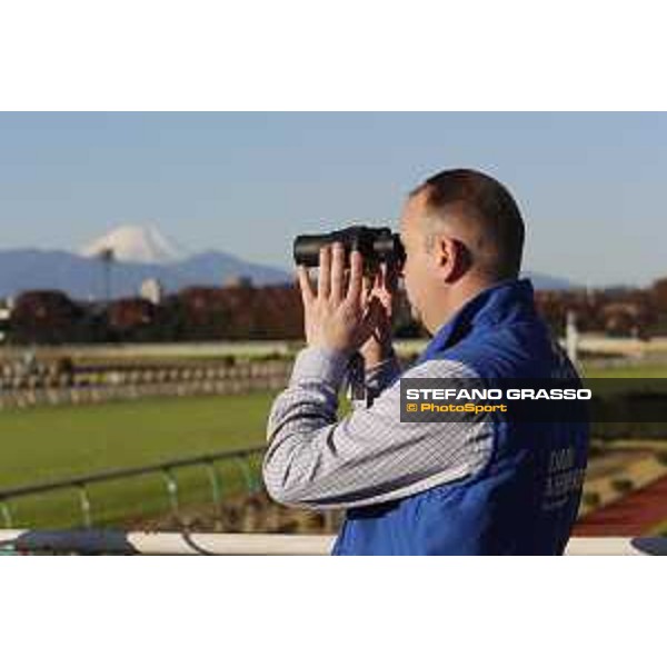
[[[185,259],[185,252],[153,226],[118,227],[88,243],[80,255],[92,258],[107,250],[112,250],[118,261],[137,263],[167,265]]]

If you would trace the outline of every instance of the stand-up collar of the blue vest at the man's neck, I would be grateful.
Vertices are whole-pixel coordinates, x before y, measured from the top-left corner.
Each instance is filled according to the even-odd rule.
[[[467,301],[434,335],[422,359],[467,338],[474,330],[491,328],[508,320],[535,316],[532,283],[527,278],[504,280]]]

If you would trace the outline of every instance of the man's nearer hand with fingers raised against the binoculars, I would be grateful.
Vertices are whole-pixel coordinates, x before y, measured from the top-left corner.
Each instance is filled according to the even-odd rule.
[[[306,341],[309,346],[352,352],[370,336],[380,313],[378,299],[364,289],[364,259],[357,250],[350,256],[346,287],[345,249],[341,243],[320,250],[317,293],[306,267],[299,266],[303,300]]]

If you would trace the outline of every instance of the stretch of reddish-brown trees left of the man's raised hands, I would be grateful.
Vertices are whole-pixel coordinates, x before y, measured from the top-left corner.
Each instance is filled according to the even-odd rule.
[[[21,293],[8,340],[16,345],[293,339],[303,330],[291,286],[192,287],[159,305],[139,297],[83,303],[60,291]]]

